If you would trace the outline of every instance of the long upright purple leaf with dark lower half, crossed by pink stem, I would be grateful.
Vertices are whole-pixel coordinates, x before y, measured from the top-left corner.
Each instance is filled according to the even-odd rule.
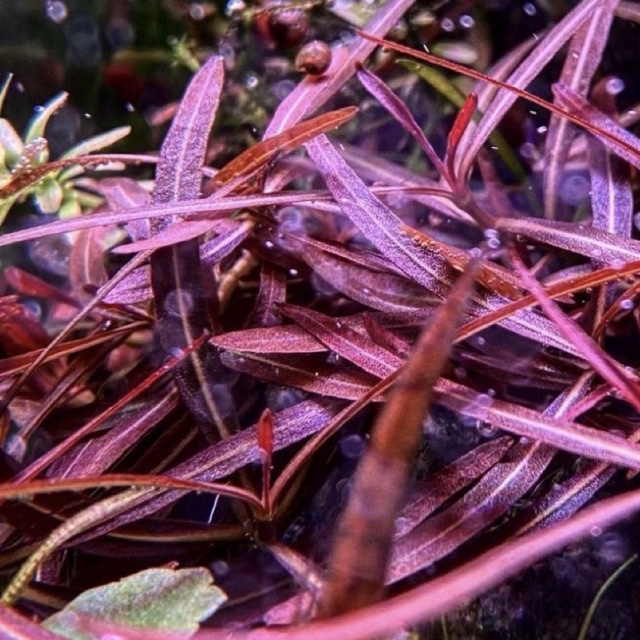
[[[160,150],[152,198],[154,203],[194,199],[200,194],[201,170],[223,78],[223,60],[214,56],[187,87]],[[152,234],[165,231],[172,222],[171,218],[154,218],[151,221]],[[198,224],[203,226],[203,223]],[[207,223],[204,226],[208,227]],[[151,286],[156,327],[165,353],[193,344],[208,329],[209,319],[200,276],[197,239],[184,240],[154,251],[151,255]],[[221,414],[211,393],[209,378],[212,372],[207,370],[216,364],[215,358],[205,361],[202,350],[194,351],[174,374],[185,404],[211,440],[215,438],[214,433],[224,436],[232,427],[227,424],[229,417]]]

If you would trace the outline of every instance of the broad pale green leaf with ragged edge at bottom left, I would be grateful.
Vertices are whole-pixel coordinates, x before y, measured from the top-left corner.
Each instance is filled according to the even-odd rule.
[[[227,599],[212,583],[203,567],[147,569],[85,591],[42,624],[71,640],[95,640],[101,635],[91,632],[90,618],[102,628],[113,624],[189,637]]]

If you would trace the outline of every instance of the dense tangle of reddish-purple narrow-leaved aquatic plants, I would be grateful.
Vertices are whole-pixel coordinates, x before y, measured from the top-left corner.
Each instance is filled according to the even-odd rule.
[[[627,346],[640,142],[635,108],[618,114],[599,72],[616,12],[640,15],[583,0],[485,73],[384,39],[411,4],[389,0],[334,45],[263,139],[217,170],[217,118],[237,87],[209,57],[153,158],[151,193],[95,178],[106,208],[0,237],[79,232],[64,285],[5,270],[5,603],[48,606],[34,576],[68,600],[63,567],[74,591],[134,569],[95,575],[96,558],[144,550],[135,568],[208,564],[228,587],[198,637],[380,637],[454,615],[640,508]],[[288,10],[321,7],[278,6],[279,19]],[[475,82],[444,133],[409,107],[416,63],[371,56],[378,45]],[[530,93],[560,58],[553,102]],[[340,94],[351,79],[370,96],[357,108],[354,83]],[[550,121],[493,148],[509,144],[497,127],[519,99]],[[3,206],[44,176],[74,188],[67,165],[35,161],[26,183],[7,174]],[[116,226],[130,242],[105,261],[97,229]],[[251,562],[269,568],[265,584],[242,579]],[[0,625],[47,637],[9,608]]]

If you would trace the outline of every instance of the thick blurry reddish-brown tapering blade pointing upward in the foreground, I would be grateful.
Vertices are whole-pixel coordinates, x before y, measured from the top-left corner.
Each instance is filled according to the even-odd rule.
[[[478,261],[472,260],[424,330],[373,427],[338,524],[321,617],[382,598],[394,520],[405,497],[421,425],[448,361],[477,267]]]

